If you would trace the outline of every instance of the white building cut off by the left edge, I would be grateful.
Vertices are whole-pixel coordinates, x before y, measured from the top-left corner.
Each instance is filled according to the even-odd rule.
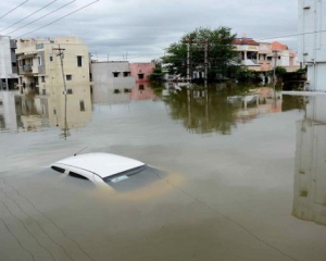
[[[0,36],[0,90],[14,89],[18,83],[15,40]]]

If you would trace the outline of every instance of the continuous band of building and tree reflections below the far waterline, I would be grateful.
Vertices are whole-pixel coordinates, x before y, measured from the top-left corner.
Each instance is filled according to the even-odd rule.
[[[98,84],[75,88],[65,96],[58,90],[48,95],[23,95],[1,92],[0,130],[39,130],[60,127],[62,136],[70,129],[83,128],[91,120],[92,103],[120,104],[130,101],[152,100],[164,102],[170,116],[191,133],[230,134],[238,124],[246,124],[260,115],[279,113],[292,109],[303,109],[304,100],[298,97],[283,97],[271,88],[255,88],[231,91],[221,88],[186,88],[165,84],[151,88],[148,83],[135,84],[129,80]],[[9,97],[7,97],[9,96]],[[91,101],[92,100],[92,101]],[[1,108],[1,107],[0,107]],[[65,124],[65,119],[67,123]]]

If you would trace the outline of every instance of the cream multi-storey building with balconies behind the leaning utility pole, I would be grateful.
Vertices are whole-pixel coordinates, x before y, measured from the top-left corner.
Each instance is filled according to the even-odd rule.
[[[64,80],[67,94],[82,86],[90,86],[88,46],[84,45],[80,38],[18,39],[16,45],[18,86],[22,92],[35,90],[41,95],[49,91],[63,94]],[[64,53],[63,69],[58,55],[59,48]]]

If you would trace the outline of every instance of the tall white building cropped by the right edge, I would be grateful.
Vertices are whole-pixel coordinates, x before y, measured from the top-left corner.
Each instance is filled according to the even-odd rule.
[[[299,0],[299,60],[308,65],[306,89],[326,91],[326,0]]]

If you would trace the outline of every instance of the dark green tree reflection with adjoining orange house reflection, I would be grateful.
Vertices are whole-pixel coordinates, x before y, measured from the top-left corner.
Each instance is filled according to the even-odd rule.
[[[238,94],[237,94],[238,92]],[[163,91],[163,101],[170,107],[174,120],[183,121],[192,133],[230,134],[238,124],[268,113],[300,109],[287,97],[287,107],[283,108],[283,96],[271,88],[256,88],[249,92],[221,92],[216,88],[172,88]],[[290,98],[296,99],[296,98]]]

